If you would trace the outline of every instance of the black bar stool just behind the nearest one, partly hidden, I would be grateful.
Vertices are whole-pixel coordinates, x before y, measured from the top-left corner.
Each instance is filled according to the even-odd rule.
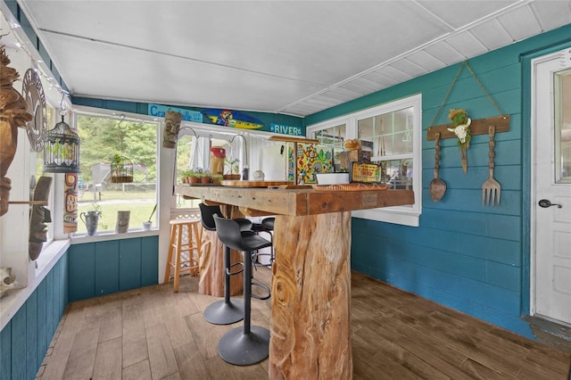
[[[199,203],[201,221],[204,229],[216,231],[214,215],[222,216],[220,206],[207,206]],[[236,219],[240,230],[250,230],[252,222],[248,219]],[[236,263],[243,265],[243,263]],[[224,300],[211,303],[203,312],[203,317],[213,325],[230,325],[244,319],[244,302],[242,300],[230,300],[230,276],[240,273],[243,269],[232,272],[233,265],[230,264],[230,248],[224,245]]]

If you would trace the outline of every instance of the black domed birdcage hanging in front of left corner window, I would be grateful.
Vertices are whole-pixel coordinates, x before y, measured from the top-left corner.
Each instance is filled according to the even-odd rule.
[[[79,145],[81,139],[63,121],[46,134],[44,171],[48,173],[79,173]]]

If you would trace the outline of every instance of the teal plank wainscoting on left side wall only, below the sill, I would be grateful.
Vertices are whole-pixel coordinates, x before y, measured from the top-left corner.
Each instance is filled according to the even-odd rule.
[[[68,304],[68,253],[0,332],[0,379],[34,379]]]

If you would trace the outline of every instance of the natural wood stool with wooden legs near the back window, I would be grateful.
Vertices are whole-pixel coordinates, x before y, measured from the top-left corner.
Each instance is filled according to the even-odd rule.
[[[170,220],[170,246],[167,268],[164,271],[164,282],[170,281],[170,268],[174,268],[173,292],[178,292],[178,278],[183,272],[196,276],[199,270],[201,235],[200,220],[174,219]],[[183,239],[185,235],[186,239]]]

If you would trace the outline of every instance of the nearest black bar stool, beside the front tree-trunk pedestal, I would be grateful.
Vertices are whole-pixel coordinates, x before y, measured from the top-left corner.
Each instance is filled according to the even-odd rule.
[[[244,253],[244,328],[236,327],[223,335],[218,343],[220,358],[230,364],[249,366],[269,356],[269,330],[261,326],[251,326],[252,285],[269,287],[252,283],[252,252],[269,247],[271,242],[260,235],[249,231],[241,231],[238,223],[231,219],[214,216],[216,234],[220,241],[228,247]],[[268,299],[267,297],[256,297]]]

